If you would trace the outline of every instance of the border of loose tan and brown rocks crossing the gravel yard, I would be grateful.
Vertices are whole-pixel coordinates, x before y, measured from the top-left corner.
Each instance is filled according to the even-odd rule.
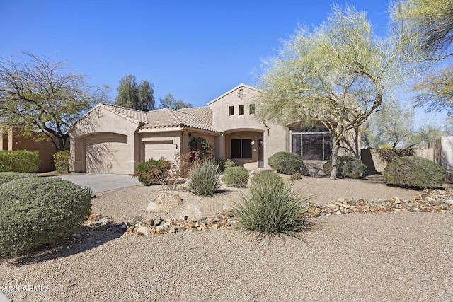
[[[160,195],[159,195],[160,196]],[[413,200],[401,200],[394,197],[384,201],[367,201],[364,199],[338,199],[336,202],[323,206],[314,202],[306,202],[303,207],[305,217],[321,217],[350,213],[386,213],[386,212],[428,212],[428,213],[451,213],[453,212],[453,189],[448,190],[424,190],[416,195]],[[86,221],[86,226],[122,226],[120,229],[127,233],[137,235],[164,233],[176,233],[184,231],[192,233],[195,231],[218,230],[219,228],[231,229],[237,225],[234,218],[234,211],[226,210],[212,217],[191,218],[181,214],[180,219],[166,218],[160,216],[148,219],[134,219],[132,225],[124,222],[115,222],[112,219],[103,217],[101,214],[92,213]],[[125,228],[124,225],[128,227]]]

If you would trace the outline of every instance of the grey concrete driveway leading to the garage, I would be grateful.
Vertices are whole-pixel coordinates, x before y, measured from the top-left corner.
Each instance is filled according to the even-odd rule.
[[[64,180],[69,180],[77,185],[87,186],[93,193],[116,190],[122,187],[140,185],[137,178],[130,175],[119,174],[97,174],[97,173],[71,173],[55,176]]]

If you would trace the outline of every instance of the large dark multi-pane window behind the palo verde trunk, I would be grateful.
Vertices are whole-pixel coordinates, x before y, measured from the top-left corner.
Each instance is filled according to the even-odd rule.
[[[294,129],[292,152],[308,161],[328,161],[332,158],[333,138],[323,127]]]

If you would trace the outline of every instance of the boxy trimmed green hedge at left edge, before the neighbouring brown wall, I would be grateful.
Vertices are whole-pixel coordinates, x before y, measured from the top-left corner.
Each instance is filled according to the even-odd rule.
[[[38,151],[0,150],[0,172],[33,173],[40,167]]]

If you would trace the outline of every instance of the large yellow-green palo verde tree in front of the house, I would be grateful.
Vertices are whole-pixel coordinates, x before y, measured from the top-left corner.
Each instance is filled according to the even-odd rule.
[[[333,136],[332,171],[340,140],[377,110],[399,80],[403,33],[379,38],[365,12],[333,6],[328,20],[299,27],[278,55],[265,62],[258,117],[280,124],[321,122]]]

